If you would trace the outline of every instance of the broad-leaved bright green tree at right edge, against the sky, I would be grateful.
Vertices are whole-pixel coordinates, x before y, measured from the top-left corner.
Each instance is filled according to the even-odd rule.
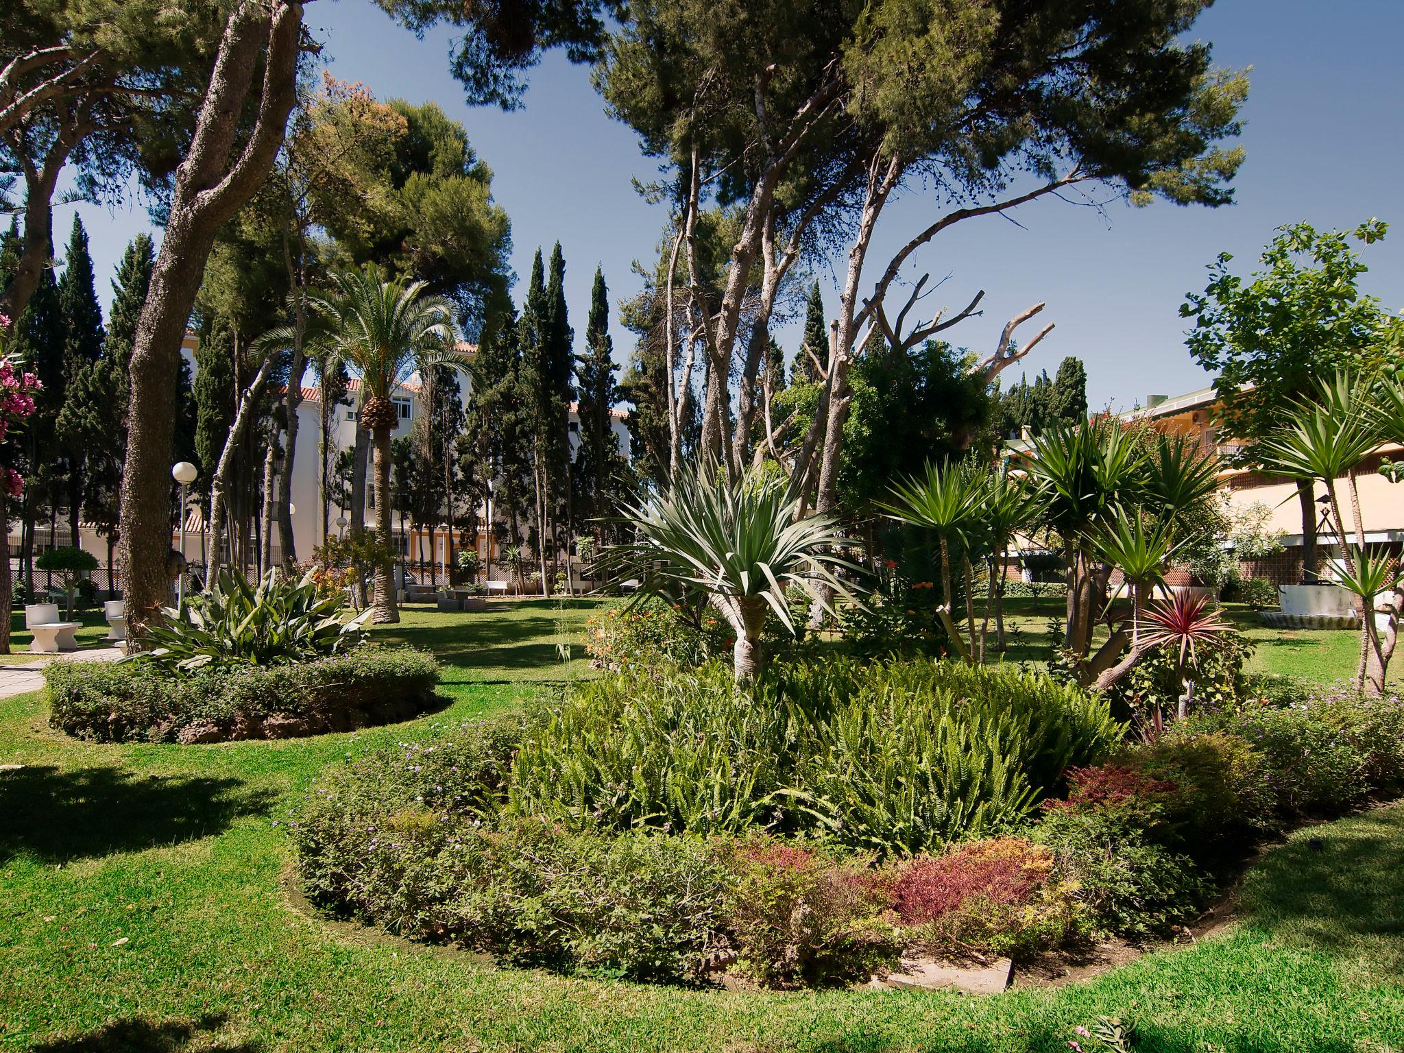
[[[1389,226],[1377,219],[1353,230],[1318,232],[1310,223],[1278,227],[1261,270],[1233,274],[1233,256],[1209,265],[1202,293],[1186,293],[1179,313],[1193,320],[1189,354],[1213,372],[1224,428],[1254,448],[1287,407],[1338,371],[1369,373],[1398,361],[1404,320],[1359,289],[1367,270],[1352,241],[1370,246]],[[1316,503],[1310,482],[1297,486],[1303,573],[1317,573]]]

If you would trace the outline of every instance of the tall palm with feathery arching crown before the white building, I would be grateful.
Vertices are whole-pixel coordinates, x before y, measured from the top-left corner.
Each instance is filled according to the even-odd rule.
[[[307,302],[323,326],[313,340],[329,358],[361,375],[361,423],[369,430],[375,453],[375,526],[390,545],[390,432],[399,421],[390,392],[411,372],[435,365],[466,368],[452,352],[452,307],[424,292],[424,282],[382,281],[366,264],[359,271],[331,275],[331,289]],[[375,622],[397,622],[390,564],[375,567]]]

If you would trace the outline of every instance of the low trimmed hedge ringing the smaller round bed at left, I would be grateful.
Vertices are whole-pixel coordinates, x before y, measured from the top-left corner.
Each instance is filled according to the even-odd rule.
[[[288,665],[159,675],[136,663],[55,661],[49,722],[104,743],[292,739],[404,720],[427,708],[438,663],[409,647]]]

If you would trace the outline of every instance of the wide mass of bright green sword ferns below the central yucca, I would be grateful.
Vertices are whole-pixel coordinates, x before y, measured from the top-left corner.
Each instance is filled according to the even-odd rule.
[[[512,807],[576,828],[816,831],[913,854],[1008,827],[1120,729],[1042,674],[830,660],[607,677],[532,727]]]

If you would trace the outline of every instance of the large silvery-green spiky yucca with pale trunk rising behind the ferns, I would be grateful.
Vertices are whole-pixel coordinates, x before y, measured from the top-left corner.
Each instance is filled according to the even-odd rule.
[[[816,583],[849,597],[834,570],[856,571],[837,549],[849,542],[833,515],[796,519],[800,498],[757,472],[727,480],[715,465],[678,472],[654,498],[628,508],[621,522],[635,539],[608,548],[601,567],[637,577],[640,594],[699,590],[736,632],[736,681],[750,681],[761,665],[761,629],[774,611],[795,632],[786,592],[804,590],[827,607]]]

